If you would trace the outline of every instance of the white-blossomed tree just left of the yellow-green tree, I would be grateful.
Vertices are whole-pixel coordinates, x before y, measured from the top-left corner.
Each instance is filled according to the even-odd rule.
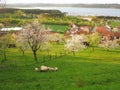
[[[75,55],[75,52],[85,48],[85,45],[82,43],[83,41],[83,36],[72,35],[72,38],[66,41],[65,48]]]

